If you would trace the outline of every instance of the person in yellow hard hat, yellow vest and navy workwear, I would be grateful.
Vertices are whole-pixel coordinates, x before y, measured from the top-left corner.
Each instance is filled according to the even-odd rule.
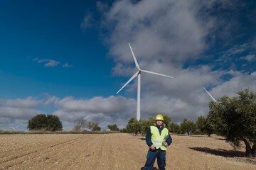
[[[151,169],[157,157],[159,170],[165,170],[166,166],[166,147],[171,145],[172,139],[167,128],[164,128],[164,117],[156,115],[156,123],[150,126],[146,132],[146,144],[149,152],[146,155],[144,170]]]

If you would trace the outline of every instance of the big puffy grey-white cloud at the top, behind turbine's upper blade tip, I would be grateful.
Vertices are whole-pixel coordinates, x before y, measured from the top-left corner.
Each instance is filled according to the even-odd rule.
[[[113,26],[110,55],[133,62],[127,40],[138,60],[183,62],[196,59],[207,45],[204,38],[213,21],[202,23],[192,1],[117,1],[106,13],[105,25]],[[104,25],[104,26],[105,26]]]

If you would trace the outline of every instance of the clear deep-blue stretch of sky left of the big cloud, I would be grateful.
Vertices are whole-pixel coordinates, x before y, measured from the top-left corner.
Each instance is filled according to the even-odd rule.
[[[5,81],[1,97],[24,98],[44,92],[92,97],[95,93],[91,89],[101,87],[100,81],[105,86],[111,82],[112,61],[97,29],[83,31],[80,27],[87,9],[95,8],[92,2],[2,3],[1,77]],[[43,60],[53,60],[53,66],[44,65],[49,61],[39,62]],[[65,64],[70,67],[63,67]]]

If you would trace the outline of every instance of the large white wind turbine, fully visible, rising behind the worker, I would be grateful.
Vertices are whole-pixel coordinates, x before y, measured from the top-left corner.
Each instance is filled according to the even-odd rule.
[[[129,44],[129,42],[128,42],[128,44]],[[134,62],[135,62],[135,65],[136,65],[136,67],[137,67],[137,69],[138,69],[138,72],[136,72],[136,73],[131,77],[131,79],[129,79],[129,80],[127,81],[127,83],[124,84],[124,86],[122,86],[121,89],[119,89],[119,91],[121,91],[121,90],[122,90],[127,84],[129,84],[129,82],[132,81],[135,77],[138,77],[138,89],[137,89],[137,120],[139,121],[139,120],[140,120],[141,73],[142,73],[142,72],[146,72],[146,73],[156,74],[156,75],[163,76],[163,77],[169,77],[169,78],[174,78],[174,77],[170,77],[170,76],[166,76],[166,75],[164,75],[164,74],[159,74],[159,73],[156,73],[156,72],[149,72],[149,71],[147,71],[147,70],[142,70],[142,69],[140,69],[140,68],[139,68],[139,64],[138,64],[138,62],[137,62],[137,60],[136,60],[136,57],[135,57],[135,55],[134,55],[134,52],[133,52],[132,47],[131,47],[130,44],[129,44],[129,47],[130,47],[130,49],[131,49],[131,51],[132,51],[132,57],[134,58]],[[117,91],[117,94],[119,93],[119,91]]]

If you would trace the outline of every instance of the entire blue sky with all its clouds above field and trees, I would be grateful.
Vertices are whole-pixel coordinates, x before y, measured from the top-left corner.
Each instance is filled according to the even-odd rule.
[[[38,113],[123,128],[136,118],[142,69],[142,118],[176,123],[208,114],[210,97],[256,91],[256,3],[231,0],[1,1],[0,129]]]

